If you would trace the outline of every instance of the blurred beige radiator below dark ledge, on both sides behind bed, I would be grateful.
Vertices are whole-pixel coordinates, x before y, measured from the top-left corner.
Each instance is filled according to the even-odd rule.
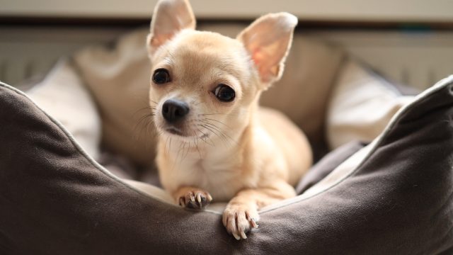
[[[126,28],[0,27],[0,80],[15,85],[45,74],[64,55],[106,43]],[[386,77],[425,89],[453,74],[453,32],[395,30],[310,31],[341,45]]]

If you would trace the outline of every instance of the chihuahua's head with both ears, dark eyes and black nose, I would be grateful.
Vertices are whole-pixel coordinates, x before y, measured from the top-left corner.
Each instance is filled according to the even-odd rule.
[[[243,130],[260,92],[280,79],[296,25],[272,13],[233,39],[195,30],[187,0],[159,1],[147,38],[156,128],[190,140]]]

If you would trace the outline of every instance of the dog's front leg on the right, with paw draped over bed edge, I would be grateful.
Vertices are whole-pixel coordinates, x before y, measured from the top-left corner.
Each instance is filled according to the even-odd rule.
[[[296,196],[294,188],[282,181],[268,188],[248,188],[236,194],[226,205],[222,223],[236,239],[246,239],[246,232],[258,227],[258,210],[279,200]]]

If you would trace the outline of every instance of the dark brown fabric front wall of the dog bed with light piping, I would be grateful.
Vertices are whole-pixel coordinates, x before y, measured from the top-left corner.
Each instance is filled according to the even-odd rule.
[[[332,172],[339,178],[262,210],[241,242],[221,214],[180,209],[110,174],[5,84],[0,120],[0,253],[437,254],[453,246],[453,77],[398,111]]]

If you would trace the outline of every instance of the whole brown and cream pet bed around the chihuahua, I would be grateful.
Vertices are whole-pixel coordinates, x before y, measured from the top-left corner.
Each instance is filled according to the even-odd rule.
[[[28,96],[0,84],[2,254],[453,252],[453,77],[403,96],[297,33],[285,77],[262,103],[300,125],[322,159],[299,196],[263,208],[260,227],[238,242],[215,206],[183,210],[147,184],[154,141],[136,126],[147,106],[146,33],[77,52]],[[108,171],[101,147],[148,171]]]

